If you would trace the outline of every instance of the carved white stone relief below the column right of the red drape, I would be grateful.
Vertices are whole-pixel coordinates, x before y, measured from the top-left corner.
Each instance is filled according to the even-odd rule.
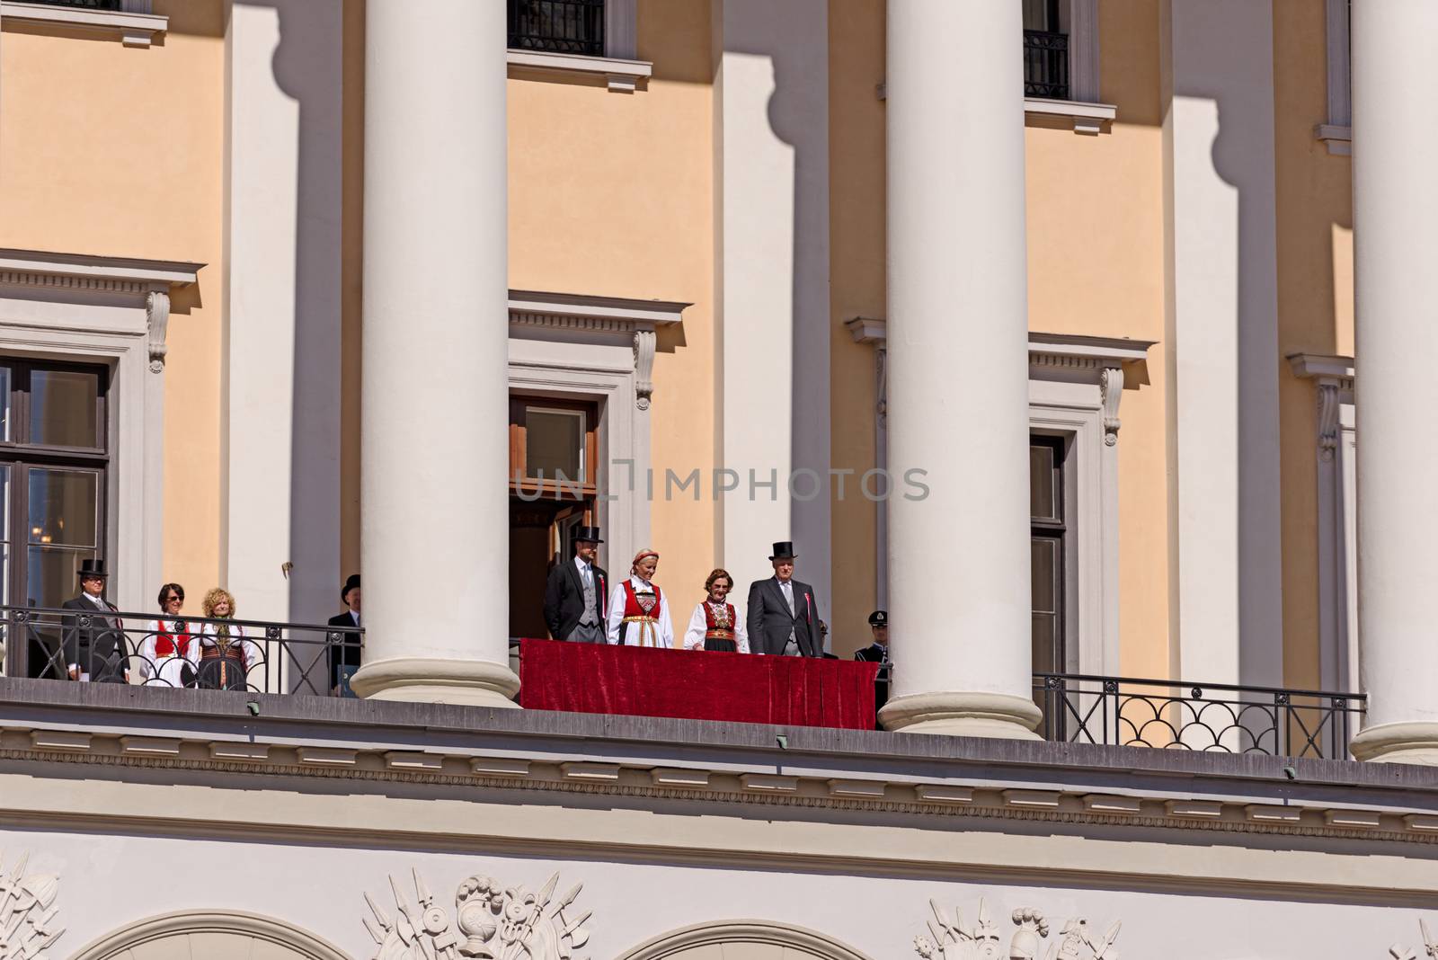
[[[1009,913],[1014,930],[1008,938],[1008,953],[1002,947],[1001,924],[994,921],[988,903],[979,900],[978,918],[974,926],[963,923],[963,911],[955,908],[952,918],[929,901],[933,920],[929,921],[929,936],[915,937],[913,947],[923,960],[1117,960],[1119,951],[1113,941],[1119,938],[1120,921],[1106,931],[1090,927],[1084,917],[1071,917],[1058,930],[1058,936],[1044,950],[1050,924],[1041,910],[1018,907]],[[1438,960],[1438,957],[1435,957]]]

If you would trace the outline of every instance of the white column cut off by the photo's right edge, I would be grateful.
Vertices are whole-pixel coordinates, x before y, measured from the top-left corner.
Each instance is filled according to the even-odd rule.
[[[1360,760],[1438,763],[1438,126],[1431,68],[1403,53],[1435,33],[1432,0],[1353,0]]]

